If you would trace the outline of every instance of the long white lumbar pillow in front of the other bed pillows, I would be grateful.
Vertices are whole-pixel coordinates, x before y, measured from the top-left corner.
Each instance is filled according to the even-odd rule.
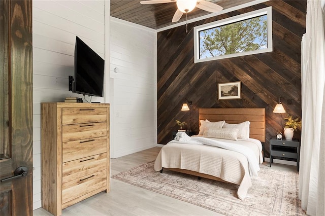
[[[205,128],[203,136],[209,138],[237,140],[238,128]]]

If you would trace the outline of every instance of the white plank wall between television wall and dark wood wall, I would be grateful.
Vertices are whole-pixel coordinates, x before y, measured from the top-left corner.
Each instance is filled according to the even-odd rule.
[[[111,157],[116,158],[157,144],[157,40],[152,29],[114,17],[110,24]]]

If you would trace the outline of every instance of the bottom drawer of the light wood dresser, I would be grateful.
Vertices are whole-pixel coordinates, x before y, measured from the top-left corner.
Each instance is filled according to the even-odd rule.
[[[107,169],[62,184],[62,204],[106,186]]]

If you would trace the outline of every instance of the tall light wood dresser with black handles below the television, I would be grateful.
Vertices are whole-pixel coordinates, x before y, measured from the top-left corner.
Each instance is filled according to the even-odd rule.
[[[41,103],[42,207],[52,214],[109,192],[109,107]]]

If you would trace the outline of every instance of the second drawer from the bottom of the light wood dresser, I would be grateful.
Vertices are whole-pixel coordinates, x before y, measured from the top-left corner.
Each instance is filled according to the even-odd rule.
[[[62,183],[89,175],[99,170],[108,169],[107,153],[93,155],[62,164]]]

